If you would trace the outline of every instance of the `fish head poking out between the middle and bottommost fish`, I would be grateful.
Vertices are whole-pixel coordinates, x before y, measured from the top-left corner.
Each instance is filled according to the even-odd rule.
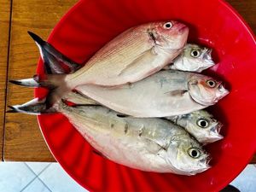
[[[205,110],[178,115],[176,124],[183,126],[198,142],[203,144],[213,143],[223,138],[219,134],[223,124]]]

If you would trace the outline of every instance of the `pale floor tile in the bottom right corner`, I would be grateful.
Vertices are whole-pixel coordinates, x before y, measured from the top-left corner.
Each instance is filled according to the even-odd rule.
[[[256,168],[253,165],[248,165],[236,179],[230,183],[241,192],[256,191]]]

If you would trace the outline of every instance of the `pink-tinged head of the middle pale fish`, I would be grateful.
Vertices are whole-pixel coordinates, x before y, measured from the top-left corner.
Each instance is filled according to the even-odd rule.
[[[192,75],[188,87],[193,100],[204,106],[213,105],[230,93],[222,82],[199,73]]]

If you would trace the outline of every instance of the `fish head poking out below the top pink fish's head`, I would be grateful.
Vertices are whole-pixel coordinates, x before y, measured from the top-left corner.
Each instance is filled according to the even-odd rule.
[[[186,44],[182,54],[173,61],[172,68],[201,73],[203,70],[214,66],[212,49],[201,47],[197,44]]]

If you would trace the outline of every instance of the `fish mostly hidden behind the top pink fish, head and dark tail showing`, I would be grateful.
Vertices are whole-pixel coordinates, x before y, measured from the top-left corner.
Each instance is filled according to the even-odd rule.
[[[72,61],[66,55],[56,50],[51,44],[44,42],[41,38],[35,38],[35,34],[28,32],[34,39],[40,50],[41,58],[44,61],[45,73],[48,74],[63,74],[74,73],[79,70],[83,65]],[[37,42],[41,42],[38,44]],[[69,68],[69,71],[61,66],[61,63]],[[164,67],[164,69],[173,69],[187,72],[201,73],[208,67],[215,65],[212,61],[212,49],[203,47],[198,44],[186,44],[183,51],[178,55],[171,64]]]

